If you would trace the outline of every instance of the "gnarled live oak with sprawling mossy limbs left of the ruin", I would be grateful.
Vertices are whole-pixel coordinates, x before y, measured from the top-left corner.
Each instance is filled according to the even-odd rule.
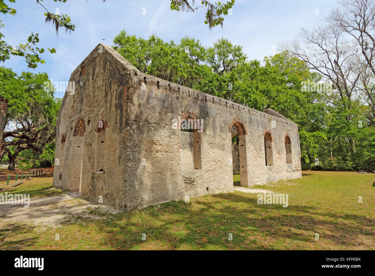
[[[53,90],[45,88],[45,81],[49,81],[46,73],[22,72],[17,76],[0,67],[0,75],[0,95],[8,100],[0,160],[6,154],[8,169],[13,170],[21,151],[42,154],[46,144],[53,141],[61,99],[55,99]]]

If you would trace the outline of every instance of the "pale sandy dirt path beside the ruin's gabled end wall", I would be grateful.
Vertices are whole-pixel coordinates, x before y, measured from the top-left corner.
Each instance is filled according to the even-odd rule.
[[[51,188],[55,189],[55,188]],[[12,222],[30,222],[34,225],[56,227],[62,222],[69,222],[72,217],[83,216],[95,219],[89,214],[89,209],[101,208],[102,211],[118,213],[113,208],[95,205],[77,198],[77,194],[62,194],[58,196],[30,198],[30,206],[15,204],[0,204],[0,225]]]

